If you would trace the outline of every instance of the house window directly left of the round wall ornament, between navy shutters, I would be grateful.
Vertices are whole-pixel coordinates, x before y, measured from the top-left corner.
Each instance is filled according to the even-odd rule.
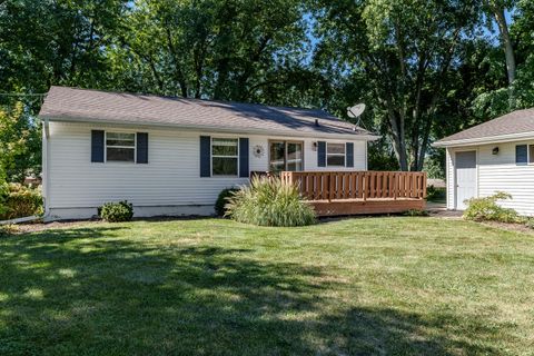
[[[212,176],[237,176],[238,158],[237,138],[211,139]]]

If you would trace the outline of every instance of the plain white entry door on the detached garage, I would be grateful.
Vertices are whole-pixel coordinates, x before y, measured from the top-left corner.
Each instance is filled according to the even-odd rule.
[[[456,209],[466,208],[465,200],[476,197],[476,151],[456,152]]]

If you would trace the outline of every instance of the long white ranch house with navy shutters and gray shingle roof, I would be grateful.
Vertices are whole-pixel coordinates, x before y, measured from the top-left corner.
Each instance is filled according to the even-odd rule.
[[[135,215],[209,215],[253,171],[367,170],[378,137],[325,111],[52,87],[43,122],[50,219],[128,199]]]

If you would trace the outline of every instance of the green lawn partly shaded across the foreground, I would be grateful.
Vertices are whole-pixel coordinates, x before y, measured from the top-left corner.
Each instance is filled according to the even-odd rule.
[[[534,237],[362,218],[0,239],[1,355],[528,355]]]

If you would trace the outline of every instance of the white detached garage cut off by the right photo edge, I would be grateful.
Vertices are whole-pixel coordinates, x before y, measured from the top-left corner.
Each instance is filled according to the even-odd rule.
[[[447,208],[496,191],[522,215],[534,216],[534,108],[517,110],[434,144],[446,151]]]

